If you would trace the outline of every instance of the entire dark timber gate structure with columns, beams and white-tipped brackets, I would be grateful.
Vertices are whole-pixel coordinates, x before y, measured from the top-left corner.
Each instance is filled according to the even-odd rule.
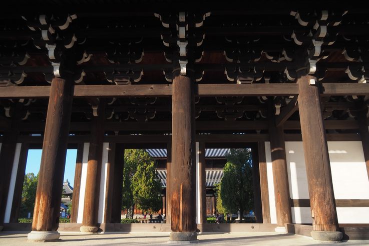
[[[360,141],[369,176],[369,10],[356,1],[243,3],[6,4],[0,226],[17,221],[29,148],[43,148],[29,239],[52,240],[59,238],[68,145],[78,148],[72,220],[87,232],[120,221],[120,197],[113,195],[122,187],[119,153],[159,146],[169,149],[170,239],[193,240],[204,223],[205,198],[196,201],[195,193],[196,180],[205,192],[205,146],[247,145],[259,152],[259,222],[271,223],[270,154],[274,223],[283,231],[293,220],[285,143],[302,141],[311,235],[340,240],[327,140]]]

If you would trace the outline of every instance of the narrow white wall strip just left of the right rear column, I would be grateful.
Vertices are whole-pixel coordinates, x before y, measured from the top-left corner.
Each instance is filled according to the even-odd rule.
[[[272,224],[277,223],[277,213],[275,208],[274,198],[274,183],[273,183],[273,168],[270,152],[270,142],[265,142],[265,160],[266,160],[266,173],[268,178],[268,190],[269,190],[269,207],[270,207],[270,222]]]

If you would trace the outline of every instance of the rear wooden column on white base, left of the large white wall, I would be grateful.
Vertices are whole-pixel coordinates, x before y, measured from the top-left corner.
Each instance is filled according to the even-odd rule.
[[[269,102],[270,103],[270,102]],[[275,207],[277,213],[276,231],[285,232],[285,223],[291,223],[291,205],[286,162],[286,149],[282,127],[275,126],[274,106],[269,105],[269,137],[273,167]]]

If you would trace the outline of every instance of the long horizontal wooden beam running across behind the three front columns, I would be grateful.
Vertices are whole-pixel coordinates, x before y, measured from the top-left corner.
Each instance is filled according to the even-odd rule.
[[[322,83],[323,95],[367,95],[366,83]],[[47,98],[50,86],[1,87],[0,98]],[[287,96],[297,95],[295,83],[197,84],[199,96]],[[76,85],[75,97],[171,96],[171,84]]]

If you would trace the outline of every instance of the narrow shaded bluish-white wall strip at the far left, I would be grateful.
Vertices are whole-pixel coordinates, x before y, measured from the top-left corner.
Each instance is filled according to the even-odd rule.
[[[9,221],[10,221],[10,215],[11,215],[11,212],[12,212],[12,205],[13,205],[14,189],[16,187],[16,181],[17,181],[18,164],[19,164],[19,158],[20,158],[20,155],[21,155],[21,147],[22,147],[22,143],[17,143],[16,151],[15,151],[15,154],[14,154],[10,185],[9,185],[7,206],[5,208],[4,223],[9,223]]]

